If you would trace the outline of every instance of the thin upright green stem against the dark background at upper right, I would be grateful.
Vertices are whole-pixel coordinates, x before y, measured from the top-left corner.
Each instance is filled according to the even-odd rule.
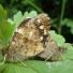
[[[65,2],[67,2],[67,0],[62,0],[60,21],[59,21],[59,27],[58,27],[58,33],[61,33],[61,29],[62,29],[61,24],[62,24],[62,19],[63,19],[63,15],[64,15]]]

